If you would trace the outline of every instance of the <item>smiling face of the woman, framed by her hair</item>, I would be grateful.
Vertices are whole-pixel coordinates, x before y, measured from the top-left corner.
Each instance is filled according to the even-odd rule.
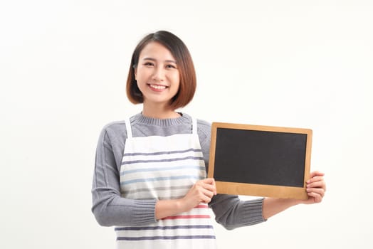
[[[135,79],[144,105],[169,105],[179,90],[177,62],[172,53],[157,42],[148,43],[140,52]]]

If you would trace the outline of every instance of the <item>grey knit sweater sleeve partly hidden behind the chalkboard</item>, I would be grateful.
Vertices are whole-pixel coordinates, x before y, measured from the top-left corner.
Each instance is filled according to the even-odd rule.
[[[204,153],[206,171],[208,171],[211,126],[206,122],[199,123],[199,139]],[[214,211],[216,222],[228,230],[265,221],[262,215],[263,198],[241,201],[235,195],[217,194],[212,198],[209,206]]]

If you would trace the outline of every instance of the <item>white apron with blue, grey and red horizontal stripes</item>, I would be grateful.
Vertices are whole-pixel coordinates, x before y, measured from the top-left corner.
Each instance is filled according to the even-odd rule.
[[[120,169],[124,198],[167,200],[182,198],[199,179],[206,178],[196,120],[192,134],[132,137],[127,140]],[[147,226],[115,228],[117,248],[216,248],[209,207],[200,203],[191,211],[162,218]]]

